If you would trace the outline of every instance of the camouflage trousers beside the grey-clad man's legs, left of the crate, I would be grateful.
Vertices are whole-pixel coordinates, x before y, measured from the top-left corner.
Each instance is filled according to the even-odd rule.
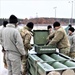
[[[23,56],[22,58],[22,66],[23,66],[23,71],[22,75],[28,74],[28,51],[26,51],[27,56]]]

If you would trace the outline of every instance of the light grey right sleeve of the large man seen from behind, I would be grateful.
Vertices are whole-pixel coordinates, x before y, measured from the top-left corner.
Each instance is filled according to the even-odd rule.
[[[22,37],[21,37],[19,31],[17,31],[17,33],[16,33],[15,36],[16,36],[16,46],[17,46],[19,52],[20,52],[22,55],[25,55],[26,52],[25,52],[25,50],[24,50],[23,40],[22,40]]]

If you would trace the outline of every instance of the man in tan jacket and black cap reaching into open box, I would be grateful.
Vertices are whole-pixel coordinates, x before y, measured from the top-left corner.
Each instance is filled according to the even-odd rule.
[[[52,39],[48,45],[56,45],[60,53],[69,55],[70,43],[65,30],[60,26],[59,22],[53,24],[55,32],[48,36],[48,40]]]

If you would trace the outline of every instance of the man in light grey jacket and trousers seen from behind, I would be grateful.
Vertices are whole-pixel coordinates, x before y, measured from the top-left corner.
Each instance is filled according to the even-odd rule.
[[[17,21],[17,17],[11,15],[9,17],[9,23],[2,31],[8,75],[21,75],[21,56],[25,56],[22,38],[19,31],[16,29]]]

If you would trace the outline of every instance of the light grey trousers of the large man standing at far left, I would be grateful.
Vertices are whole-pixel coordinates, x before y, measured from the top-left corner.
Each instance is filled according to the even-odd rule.
[[[21,57],[6,52],[8,75],[21,75]]]

